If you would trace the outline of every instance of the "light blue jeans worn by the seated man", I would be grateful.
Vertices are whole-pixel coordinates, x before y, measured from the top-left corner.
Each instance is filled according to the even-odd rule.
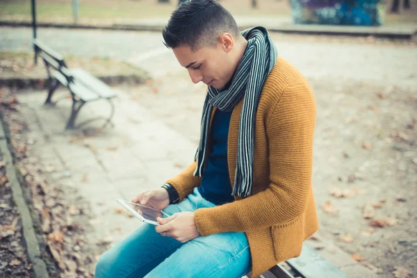
[[[169,215],[213,207],[194,188],[193,194],[163,211]],[[245,233],[227,232],[198,236],[181,243],[156,233],[152,224],[141,224],[121,243],[99,258],[95,277],[186,278],[242,277],[249,272],[251,257]]]

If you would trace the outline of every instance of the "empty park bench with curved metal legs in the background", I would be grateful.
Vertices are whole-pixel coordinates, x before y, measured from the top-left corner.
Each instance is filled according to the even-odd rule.
[[[111,119],[114,114],[112,99],[117,96],[116,93],[108,87],[108,85],[95,78],[95,76],[92,76],[90,73],[79,68],[69,69],[65,64],[63,56],[58,54],[58,52],[54,51],[54,49],[51,49],[43,42],[40,42],[40,40],[34,40],[33,46],[35,48],[36,55],[39,55],[44,60],[48,73],[48,96],[44,104],[55,105],[60,99],[67,98],[67,96],[65,96],[56,101],[52,101],[52,96],[60,84],[70,90],[72,98],[72,111],[65,129],[78,128],[79,126],[92,122],[93,120],[101,119],[102,117],[96,117],[94,119],[87,120],[78,126],[75,125],[76,117],[84,104],[100,99],[105,99],[111,106],[111,113],[109,117],[105,118],[106,122],[104,123],[104,126],[109,123],[111,124]]]

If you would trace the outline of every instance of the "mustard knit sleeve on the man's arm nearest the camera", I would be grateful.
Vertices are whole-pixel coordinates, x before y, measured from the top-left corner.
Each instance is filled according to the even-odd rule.
[[[221,206],[197,209],[195,223],[202,236],[284,224],[304,212],[311,187],[316,122],[311,88],[307,83],[286,88],[268,114],[268,188]]]

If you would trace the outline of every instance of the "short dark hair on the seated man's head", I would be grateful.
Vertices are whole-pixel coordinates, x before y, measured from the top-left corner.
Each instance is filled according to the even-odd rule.
[[[162,31],[166,47],[187,45],[193,51],[200,47],[215,47],[221,33],[237,36],[239,29],[231,13],[215,0],[181,3]]]

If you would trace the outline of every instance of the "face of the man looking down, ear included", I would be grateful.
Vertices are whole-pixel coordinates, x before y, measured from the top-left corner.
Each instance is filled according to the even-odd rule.
[[[193,83],[202,81],[208,86],[221,89],[230,81],[235,70],[227,49],[218,42],[216,48],[202,47],[192,51],[188,46],[180,46],[172,51],[179,64],[188,70]]]

